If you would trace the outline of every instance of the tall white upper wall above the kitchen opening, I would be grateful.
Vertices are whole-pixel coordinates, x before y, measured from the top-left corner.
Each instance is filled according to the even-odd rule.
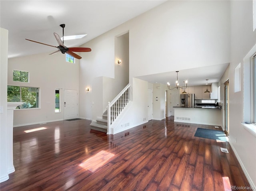
[[[128,24],[132,76],[229,62],[229,1],[167,1]]]

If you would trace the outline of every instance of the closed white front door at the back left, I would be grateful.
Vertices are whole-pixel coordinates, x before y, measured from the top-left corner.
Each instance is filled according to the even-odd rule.
[[[64,89],[64,120],[77,117],[77,90]]]

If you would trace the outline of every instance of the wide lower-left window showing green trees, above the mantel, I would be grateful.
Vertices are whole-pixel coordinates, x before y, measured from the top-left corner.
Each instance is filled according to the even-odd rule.
[[[8,102],[25,102],[16,109],[39,108],[39,88],[7,86]]]

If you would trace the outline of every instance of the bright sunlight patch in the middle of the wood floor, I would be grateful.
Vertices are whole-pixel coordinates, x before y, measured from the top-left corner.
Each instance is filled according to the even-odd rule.
[[[95,172],[98,168],[103,166],[113,156],[115,155],[102,150],[97,154],[95,154],[94,156],[83,161],[79,166],[91,172]]]

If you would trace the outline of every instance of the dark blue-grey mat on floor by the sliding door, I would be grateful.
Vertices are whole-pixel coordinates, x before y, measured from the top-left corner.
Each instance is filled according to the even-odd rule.
[[[226,136],[224,131],[212,130],[212,129],[203,129],[197,128],[195,137],[201,137],[206,139],[213,139],[217,141],[228,141],[228,137]]]

